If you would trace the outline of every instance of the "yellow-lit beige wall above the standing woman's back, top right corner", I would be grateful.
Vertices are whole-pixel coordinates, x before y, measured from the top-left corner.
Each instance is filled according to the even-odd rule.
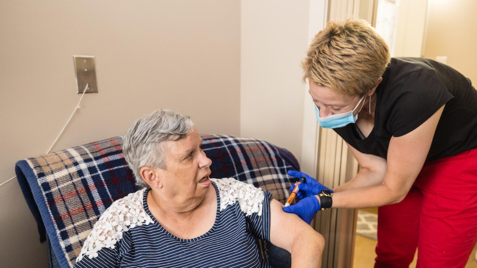
[[[477,84],[477,1],[429,0],[424,58],[447,56],[447,65]]]

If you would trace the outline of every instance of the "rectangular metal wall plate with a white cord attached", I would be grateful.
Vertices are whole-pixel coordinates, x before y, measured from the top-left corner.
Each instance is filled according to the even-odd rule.
[[[74,71],[76,72],[77,93],[83,93],[86,83],[88,89],[86,93],[98,92],[96,82],[96,67],[94,64],[94,56],[74,56]]]

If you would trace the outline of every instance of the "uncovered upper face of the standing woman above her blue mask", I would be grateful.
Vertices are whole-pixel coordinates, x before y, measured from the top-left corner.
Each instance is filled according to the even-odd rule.
[[[319,86],[311,81],[310,90],[308,92],[320,110],[320,117],[336,113],[347,113],[353,110],[362,98],[362,96],[359,95],[335,93],[330,88]],[[360,110],[361,109],[356,109],[353,116],[359,113]]]

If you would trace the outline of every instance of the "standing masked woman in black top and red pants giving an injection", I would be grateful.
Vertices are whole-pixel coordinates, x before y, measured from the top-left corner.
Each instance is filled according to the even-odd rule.
[[[307,176],[297,204],[310,222],[329,207],[378,208],[374,267],[464,267],[477,241],[477,91],[449,66],[390,58],[363,20],[330,21],[302,63],[319,124],[361,169],[333,190]],[[310,103],[311,107],[311,103]]]

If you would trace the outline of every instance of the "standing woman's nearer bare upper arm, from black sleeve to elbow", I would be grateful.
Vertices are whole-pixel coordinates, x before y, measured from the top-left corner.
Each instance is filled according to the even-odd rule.
[[[424,165],[444,106],[415,130],[403,136],[391,137],[383,183],[400,200],[409,192]]]

